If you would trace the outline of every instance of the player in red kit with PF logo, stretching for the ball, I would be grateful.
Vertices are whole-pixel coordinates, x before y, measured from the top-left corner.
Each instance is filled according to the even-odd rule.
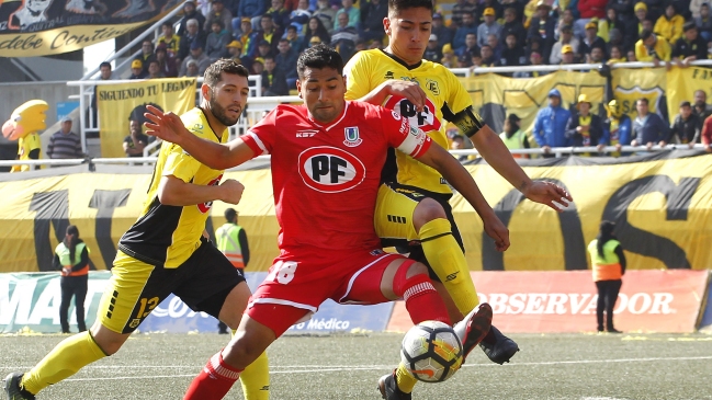
[[[425,264],[381,250],[372,224],[386,150],[397,148],[437,169],[482,217],[498,248],[508,231],[470,173],[407,118],[381,106],[347,102],[343,61],[325,45],[297,61],[305,105],[279,105],[249,133],[212,144],[185,130],[172,113],[152,107],[149,134],[176,142],[212,168],[272,156],[280,224],[280,255],[257,288],[233,341],[193,380],[184,399],[222,399],[241,370],[291,325],[308,319],[326,299],[377,304],[404,298],[414,323],[450,324]],[[491,308],[473,309],[455,332],[464,342],[484,336]]]

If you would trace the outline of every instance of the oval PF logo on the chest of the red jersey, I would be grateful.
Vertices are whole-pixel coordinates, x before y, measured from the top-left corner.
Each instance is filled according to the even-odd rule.
[[[304,183],[317,192],[339,193],[363,182],[365,167],[352,153],[328,146],[302,151],[298,158],[300,175]]]

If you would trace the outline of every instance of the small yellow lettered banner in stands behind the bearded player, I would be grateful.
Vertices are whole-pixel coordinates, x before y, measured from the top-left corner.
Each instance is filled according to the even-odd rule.
[[[150,79],[97,87],[102,157],[126,157],[123,141],[129,124],[144,128],[146,105],[183,114],[195,105],[195,78]]]

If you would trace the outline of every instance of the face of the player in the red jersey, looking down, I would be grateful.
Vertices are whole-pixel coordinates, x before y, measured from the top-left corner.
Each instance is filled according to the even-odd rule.
[[[307,67],[296,81],[296,89],[315,121],[328,124],[341,115],[346,82],[336,69]]]

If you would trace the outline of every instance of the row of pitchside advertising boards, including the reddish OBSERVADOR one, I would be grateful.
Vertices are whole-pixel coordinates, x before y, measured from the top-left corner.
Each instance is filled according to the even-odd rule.
[[[95,320],[109,272],[89,274],[84,302],[87,324]],[[253,290],[267,273],[247,273]],[[614,309],[624,332],[693,332],[702,316],[712,315],[709,271],[629,271]],[[499,329],[511,333],[590,332],[596,329],[597,293],[587,271],[473,272],[481,301],[493,306]],[[0,332],[55,333],[59,327],[59,274],[0,274]],[[76,330],[74,304],[70,324]],[[700,322],[701,320],[701,322]],[[403,301],[373,306],[337,305],[328,300],[308,321],[286,334],[305,332],[405,332],[412,323]],[[217,321],[193,312],[180,298],[168,297],[139,327],[140,332],[216,332]]]

